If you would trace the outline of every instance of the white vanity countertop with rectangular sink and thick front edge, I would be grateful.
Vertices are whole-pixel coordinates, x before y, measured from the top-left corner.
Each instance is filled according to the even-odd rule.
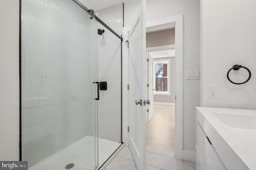
[[[197,107],[196,120],[228,170],[256,170],[256,110]]]

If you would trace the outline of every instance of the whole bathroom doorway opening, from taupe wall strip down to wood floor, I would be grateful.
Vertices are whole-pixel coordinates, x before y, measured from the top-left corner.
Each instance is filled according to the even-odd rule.
[[[175,156],[175,26],[146,34],[148,105],[146,151]]]

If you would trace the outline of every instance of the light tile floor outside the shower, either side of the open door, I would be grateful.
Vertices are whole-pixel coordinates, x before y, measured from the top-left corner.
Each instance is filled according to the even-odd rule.
[[[106,170],[137,170],[130,149],[124,147]],[[146,152],[146,170],[196,170],[196,164],[176,159],[174,156]]]

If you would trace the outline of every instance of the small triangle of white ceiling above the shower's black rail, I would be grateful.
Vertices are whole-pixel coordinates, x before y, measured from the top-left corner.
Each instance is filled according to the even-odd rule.
[[[115,6],[129,0],[87,0],[96,11],[108,8],[110,6]]]

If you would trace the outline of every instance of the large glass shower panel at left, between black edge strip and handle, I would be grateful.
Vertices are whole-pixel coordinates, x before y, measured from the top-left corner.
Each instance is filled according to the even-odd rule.
[[[96,20],[72,0],[22,0],[21,5],[22,160],[30,170],[93,170],[98,165]]]

